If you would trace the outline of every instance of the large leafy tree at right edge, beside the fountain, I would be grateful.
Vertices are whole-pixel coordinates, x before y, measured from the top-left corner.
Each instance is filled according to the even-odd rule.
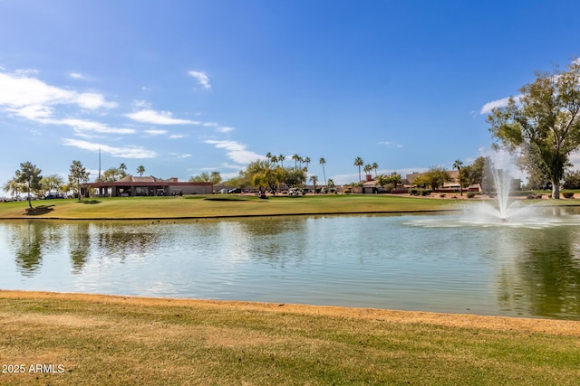
[[[536,80],[510,97],[507,106],[493,108],[489,131],[497,146],[515,152],[529,146],[546,166],[552,197],[560,198],[560,183],[568,157],[580,148],[580,61],[567,71],[536,72]]]

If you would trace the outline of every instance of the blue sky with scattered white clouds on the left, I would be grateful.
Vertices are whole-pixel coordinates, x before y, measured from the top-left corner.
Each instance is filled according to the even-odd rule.
[[[469,165],[486,112],[580,54],[575,1],[0,0],[0,182],[30,161],[96,178]],[[575,155],[573,161],[580,165]]]

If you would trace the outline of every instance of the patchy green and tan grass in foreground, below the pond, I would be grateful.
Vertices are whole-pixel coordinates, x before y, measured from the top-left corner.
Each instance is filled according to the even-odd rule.
[[[580,322],[571,321],[0,291],[0,323],[3,385],[580,379]]]

